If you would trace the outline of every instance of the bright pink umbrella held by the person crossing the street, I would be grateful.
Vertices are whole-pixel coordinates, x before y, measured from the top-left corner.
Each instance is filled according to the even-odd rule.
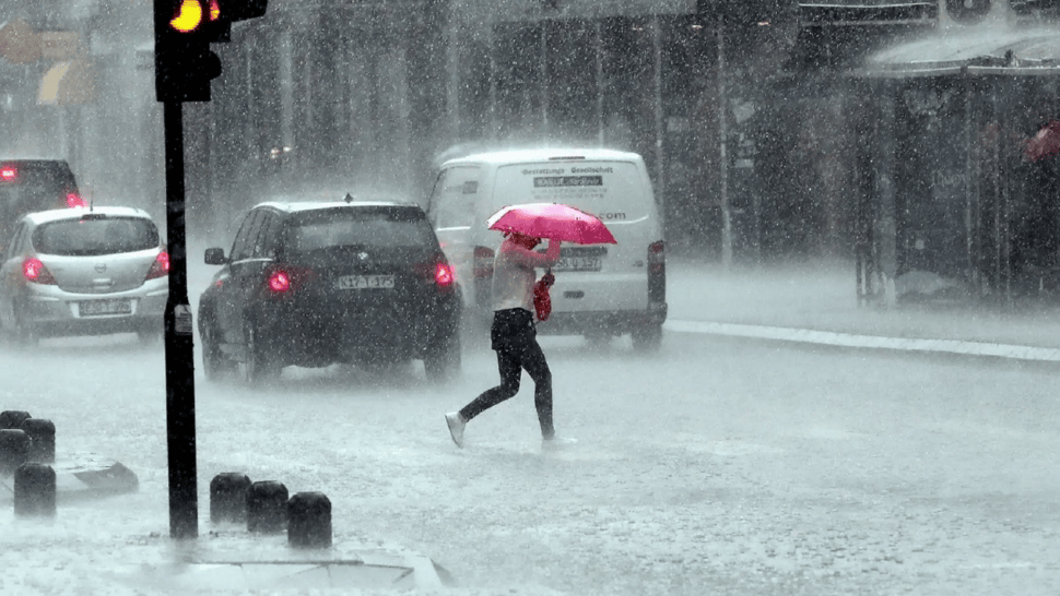
[[[578,245],[617,245],[596,215],[561,203],[509,205],[486,219],[490,229]]]

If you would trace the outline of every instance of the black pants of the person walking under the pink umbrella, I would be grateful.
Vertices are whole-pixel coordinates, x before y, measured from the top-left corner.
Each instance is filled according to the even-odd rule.
[[[533,329],[533,315],[521,308],[498,310],[493,315],[490,330],[492,347],[497,353],[497,369],[500,384],[482,392],[470,404],[463,406],[460,415],[464,420],[509,400],[519,393],[522,371],[533,379],[533,405],[538,409],[541,436],[551,439],[555,434],[552,426],[552,372],[544,353],[538,345],[538,333]]]

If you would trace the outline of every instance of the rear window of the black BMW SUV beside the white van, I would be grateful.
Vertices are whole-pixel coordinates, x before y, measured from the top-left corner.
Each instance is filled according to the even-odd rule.
[[[284,231],[284,247],[291,253],[306,253],[329,247],[423,247],[437,246],[437,238],[421,210],[339,208],[303,212]]]

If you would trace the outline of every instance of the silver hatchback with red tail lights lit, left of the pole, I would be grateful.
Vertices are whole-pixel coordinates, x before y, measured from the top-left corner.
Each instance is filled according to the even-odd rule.
[[[19,219],[0,265],[0,330],[40,337],[163,333],[169,254],[146,212],[75,207]]]

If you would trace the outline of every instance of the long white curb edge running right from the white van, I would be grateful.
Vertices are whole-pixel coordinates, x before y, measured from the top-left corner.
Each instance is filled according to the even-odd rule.
[[[1038,362],[1060,362],[1060,349],[1057,348],[992,344],[986,342],[964,342],[959,339],[906,339],[898,337],[883,337],[878,335],[835,333],[831,331],[682,320],[669,320],[663,323],[663,329],[675,333],[703,333],[708,335],[774,339],[838,347],[928,351],[939,354],[959,354],[965,356],[1008,358],[1013,360],[1030,360]]]

